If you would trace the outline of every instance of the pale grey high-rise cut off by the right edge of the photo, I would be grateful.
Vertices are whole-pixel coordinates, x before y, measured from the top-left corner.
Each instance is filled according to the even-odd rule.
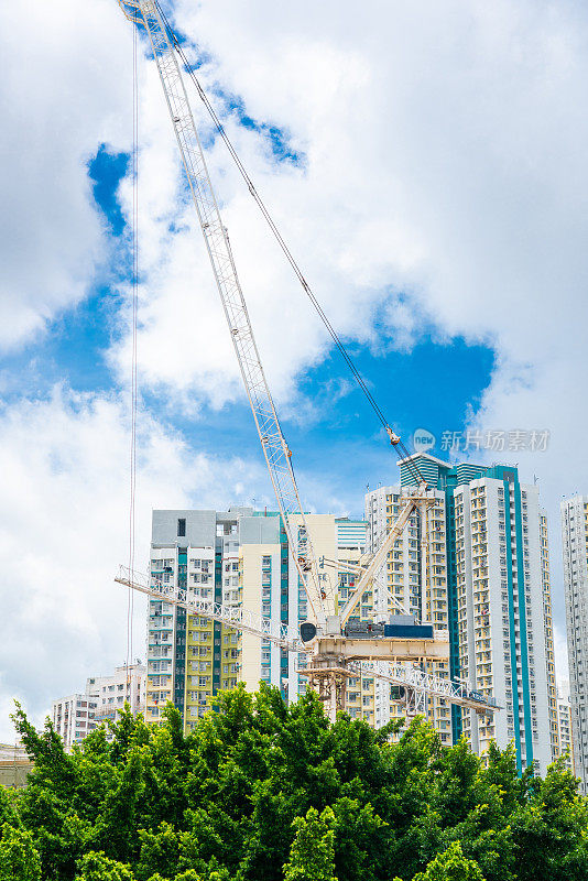
[[[562,502],[569,699],[575,773],[588,793],[588,496]]]

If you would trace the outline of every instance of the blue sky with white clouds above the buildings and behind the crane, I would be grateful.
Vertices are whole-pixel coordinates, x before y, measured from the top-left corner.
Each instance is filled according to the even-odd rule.
[[[588,493],[586,4],[165,9],[407,446],[425,429],[442,458],[519,464],[537,481],[565,679],[559,502]],[[73,0],[22,0],[0,8],[0,23],[10,740],[14,699],[41,724],[52,699],[128,651],[144,657],[145,609],[134,601],[128,646],[113,576],[129,558],[133,30],[115,0],[83,15]],[[143,37],[138,89],[141,568],[152,509],[273,501]],[[361,515],[366,488],[395,481],[393,453],[194,91],[190,101],[304,503]]]

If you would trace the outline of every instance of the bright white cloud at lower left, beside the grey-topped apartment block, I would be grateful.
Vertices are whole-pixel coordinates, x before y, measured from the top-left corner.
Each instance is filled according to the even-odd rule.
[[[116,398],[55,389],[0,415],[2,621],[0,707],[22,699],[36,722],[51,700],[124,663],[129,559],[129,426]],[[139,420],[135,566],[146,568],[152,508],[248,503],[261,464],[197,454]],[[134,655],[144,657],[135,600]],[[0,739],[12,737],[8,714]]]

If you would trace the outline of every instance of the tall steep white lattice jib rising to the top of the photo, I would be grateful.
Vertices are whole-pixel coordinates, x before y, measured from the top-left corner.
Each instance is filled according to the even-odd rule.
[[[119,0],[119,4],[128,19],[144,25],[151,42],[290,550],[314,616],[318,623],[323,623],[325,611],[318,586],[316,559],[292,469],[291,453],[282,434],[265,380],[177,56],[157,7],[152,0]],[[290,514],[297,514],[296,527],[290,522]]]

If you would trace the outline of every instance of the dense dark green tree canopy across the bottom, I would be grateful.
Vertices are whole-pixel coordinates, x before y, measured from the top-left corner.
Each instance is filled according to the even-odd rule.
[[[390,730],[314,694],[222,694],[184,735],[127,710],[72,753],[47,720],[14,721],[34,759],[0,790],[0,881],[584,881],[588,802],[563,763],[519,776],[440,746],[415,719]]]

